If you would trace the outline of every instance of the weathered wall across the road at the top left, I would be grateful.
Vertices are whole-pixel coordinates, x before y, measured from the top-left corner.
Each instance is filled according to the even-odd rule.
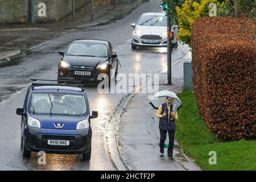
[[[35,22],[57,21],[72,14],[72,0],[34,0]],[[114,0],[94,0],[94,7],[112,5]],[[38,16],[39,3],[46,4],[46,16]],[[76,9],[90,0],[75,0]],[[0,0],[0,23],[26,23],[30,21],[30,0]]]

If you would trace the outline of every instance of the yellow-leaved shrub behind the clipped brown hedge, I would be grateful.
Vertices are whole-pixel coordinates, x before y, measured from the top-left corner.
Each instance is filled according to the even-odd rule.
[[[217,15],[229,13],[229,0],[185,0],[182,7],[176,6],[177,18],[179,22],[179,33],[177,39],[191,46],[191,27],[193,22],[199,17],[209,16],[209,4],[216,3]]]

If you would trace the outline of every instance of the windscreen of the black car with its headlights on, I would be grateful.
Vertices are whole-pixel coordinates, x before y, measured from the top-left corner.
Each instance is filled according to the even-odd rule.
[[[104,44],[72,43],[66,55],[107,57],[108,49]]]

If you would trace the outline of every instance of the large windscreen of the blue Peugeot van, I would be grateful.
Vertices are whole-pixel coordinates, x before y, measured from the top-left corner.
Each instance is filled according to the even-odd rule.
[[[86,111],[85,97],[81,94],[32,93],[30,114],[76,116]]]

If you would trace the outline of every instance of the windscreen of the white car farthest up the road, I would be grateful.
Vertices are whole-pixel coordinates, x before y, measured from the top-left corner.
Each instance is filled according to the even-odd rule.
[[[167,16],[143,15],[138,21],[139,26],[167,26]]]

